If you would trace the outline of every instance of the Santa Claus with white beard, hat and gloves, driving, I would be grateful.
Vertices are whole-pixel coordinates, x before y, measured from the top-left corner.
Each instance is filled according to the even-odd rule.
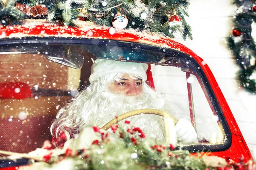
[[[158,94],[146,82],[148,64],[96,59],[91,68],[90,85],[72,102],[62,108],[52,123],[53,143],[57,147],[81,149],[100,139],[92,127],[102,127],[122,113],[139,109],[157,109],[171,114],[169,100]],[[129,118],[140,127],[146,138],[164,142],[163,117],[140,115]],[[198,142],[192,124],[180,119],[175,125],[177,139],[182,144]]]

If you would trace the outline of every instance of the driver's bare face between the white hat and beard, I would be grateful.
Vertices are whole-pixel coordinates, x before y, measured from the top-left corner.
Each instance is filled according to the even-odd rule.
[[[142,92],[142,80],[133,79],[129,74],[125,74],[122,79],[114,81],[108,89],[116,94],[137,96]]]

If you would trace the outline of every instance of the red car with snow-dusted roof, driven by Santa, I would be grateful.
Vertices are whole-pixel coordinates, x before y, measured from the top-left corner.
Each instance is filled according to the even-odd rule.
[[[79,25],[28,20],[0,27],[0,150],[28,153],[50,140],[58,105],[88,85],[93,60],[103,58],[151,65],[151,87],[169,96],[177,118],[190,120],[198,134],[198,144],[178,148],[252,159],[210,68],[192,50],[156,34]]]

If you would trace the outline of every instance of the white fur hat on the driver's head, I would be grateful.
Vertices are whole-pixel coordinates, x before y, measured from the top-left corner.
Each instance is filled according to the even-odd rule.
[[[121,62],[113,59],[96,59],[91,67],[90,83],[96,79],[111,73],[127,73],[147,80],[146,71],[148,64],[137,62]]]

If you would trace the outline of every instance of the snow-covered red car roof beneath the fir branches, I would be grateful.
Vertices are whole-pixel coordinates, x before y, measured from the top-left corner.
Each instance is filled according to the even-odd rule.
[[[96,38],[104,40],[121,40],[140,42],[160,48],[172,48],[196,57],[197,55],[186,46],[166,37],[149,31],[134,29],[116,29],[108,26],[97,26],[88,21],[78,20],[78,27],[58,26],[42,19],[27,19],[22,25],[0,26],[0,40],[24,37],[76,37]]]

